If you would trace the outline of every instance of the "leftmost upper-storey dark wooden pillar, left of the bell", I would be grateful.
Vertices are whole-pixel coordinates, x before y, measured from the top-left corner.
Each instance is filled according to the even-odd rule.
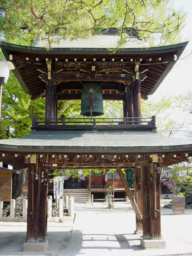
[[[54,117],[54,80],[52,76],[46,81],[45,117]]]

